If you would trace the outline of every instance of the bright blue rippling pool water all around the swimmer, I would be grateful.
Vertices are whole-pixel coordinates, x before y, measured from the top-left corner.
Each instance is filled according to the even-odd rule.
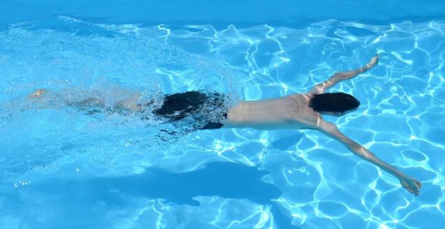
[[[350,13],[311,14],[293,3],[243,1],[239,8],[258,13],[232,16],[213,15],[220,11],[197,1],[171,6],[206,13],[143,5],[157,10],[157,19],[133,8],[138,1],[122,3],[120,13],[119,1],[94,2],[0,4],[0,228],[445,223],[442,2],[390,1],[385,8],[339,1],[325,7],[348,6]],[[222,8],[231,12],[231,4]],[[394,17],[378,10],[397,6],[405,11]],[[204,90],[236,103],[304,93],[376,52],[377,67],[331,90],[357,97],[359,109],[326,119],[421,180],[419,196],[313,130],[179,129],[164,136],[161,129],[172,127],[139,113],[88,115],[65,102]],[[51,101],[26,98],[38,88],[51,90]]]

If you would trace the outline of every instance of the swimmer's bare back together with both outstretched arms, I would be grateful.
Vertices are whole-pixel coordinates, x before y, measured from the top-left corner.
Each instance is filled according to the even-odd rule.
[[[364,67],[352,71],[337,72],[330,79],[317,84],[305,94],[294,94],[270,100],[241,101],[227,113],[227,123],[225,123],[223,128],[253,128],[261,130],[317,129],[323,132],[323,134],[343,143],[355,155],[397,177],[407,191],[417,196],[422,186],[421,182],[403,174],[394,166],[375,157],[363,145],[342,134],[334,123],[323,120],[322,113],[318,113],[309,107],[309,100],[314,95],[324,93],[325,90],[340,81],[352,79],[358,74],[366,72],[377,65],[377,63],[378,55],[375,55]],[[342,113],[323,114],[342,115]]]

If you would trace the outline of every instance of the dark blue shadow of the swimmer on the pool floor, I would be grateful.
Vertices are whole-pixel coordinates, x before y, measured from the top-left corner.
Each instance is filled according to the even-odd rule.
[[[94,177],[86,180],[51,180],[49,184],[35,187],[44,195],[56,195],[70,209],[83,205],[83,212],[76,217],[101,217],[98,212],[85,212],[85,205],[105,203],[112,209],[128,205],[127,200],[137,197],[161,198],[177,205],[199,206],[196,196],[220,196],[245,199],[259,205],[269,205],[278,228],[296,228],[291,225],[289,210],[271,199],[277,199],[282,191],[273,184],[261,180],[268,174],[257,167],[214,162],[205,168],[186,172],[170,173],[159,168],[149,168],[144,173],[122,177]],[[81,208],[81,207],[79,207]],[[67,213],[67,212],[65,212]],[[58,214],[61,214],[58,212]],[[64,214],[60,215],[63,216]],[[82,216],[84,215],[84,216]],[[66,219],[66,218],[65,218]],[[77,221],[77,220],[73,220]]]

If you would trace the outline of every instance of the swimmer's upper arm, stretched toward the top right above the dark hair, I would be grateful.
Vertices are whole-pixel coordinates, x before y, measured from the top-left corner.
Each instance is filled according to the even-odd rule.
[[[352,71],[345,71],[345,72],[336,72],[332,77],[327,79],[327,81],[324,81],[321,84],[317,84],[312,88],[312,90],[309,91],[311,94],[321,94],[324,93],[327,88],[330,88],[337,84],[339,81],[343,81],[346,79],[351,79],[353,77],[356,77],[357,74],[360,74],[362,72],[366,72],[367,70],[373,68],[375,65],[378,64],[378,54],[375,54],[373,58],[371,58],[371,61],[369,63],[366,63],[362,68],[357,68]]]

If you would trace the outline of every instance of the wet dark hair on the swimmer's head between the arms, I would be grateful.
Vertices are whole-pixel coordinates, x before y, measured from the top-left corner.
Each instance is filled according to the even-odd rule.
[[[309,101],[309,107],[316,112],[340,112],[356,109],[360,105],[352,95],[346,93],[323,93],[314,95]]]

